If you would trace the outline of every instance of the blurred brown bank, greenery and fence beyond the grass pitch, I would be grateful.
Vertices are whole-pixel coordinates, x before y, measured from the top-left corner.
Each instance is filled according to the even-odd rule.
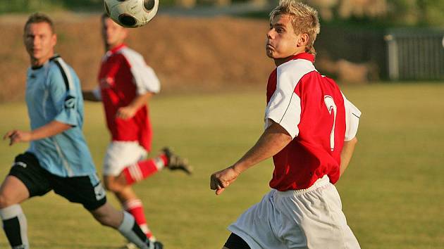
[[[307,2],[321,18],[316,67],[340,84],[444,79],[444,1]],[[272,67],[264,56],[264,37],[275,5],[270,0],[161,0],[159,15],[132,30],[128,43],[147,58],[167,91],[261,85]],[[85,87],[95,84],[97,70],[91,69],[103,53],[102,1],[0,1],[0,101],[23,98],[18,94],[27,64],[22,26],[34,11],[52,13],[58,53]]]

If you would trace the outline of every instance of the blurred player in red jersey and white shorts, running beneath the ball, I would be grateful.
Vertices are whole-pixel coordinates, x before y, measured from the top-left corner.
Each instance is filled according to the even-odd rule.
[[[186,160],[164,148],[156,158],[144,159],[151,150],[152,128],[147,101],[160,90],[159,79],[143,57],[124,44],[128,30],[104,14],[101,32],[106,53],[99,72],[99,87],[83,91],[85,100],[102,101],[112,141],[104,159],[106,189],[116,194],[148,238],[154,241],[142,200],[131,185],[164,167],[191,174]]]

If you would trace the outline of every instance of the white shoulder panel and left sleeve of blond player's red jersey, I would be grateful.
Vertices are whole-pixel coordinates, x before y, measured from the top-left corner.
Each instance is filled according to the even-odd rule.
[[[265,129],[271,125],[270,120],[282,126],[294,139],[299,134],[297,125],[300,123],[300,97],[295,88],[300,79],[307,73],[316,71],[309,60],[289,60],[276,69],[276,91],[266,106]]]

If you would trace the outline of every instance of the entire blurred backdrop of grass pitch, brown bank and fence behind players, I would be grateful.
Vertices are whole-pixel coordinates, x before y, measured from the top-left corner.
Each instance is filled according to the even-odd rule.
[[[336,184],[348,224],[365,249],[444,248],[444,0],[306,2],[321,17],[316,68],[362,110],[359,143]],[[130,30],[128,45],[162,84],[149,102],[153,151],[172,146],[195,167],[192,177],[161,172],[135,185],[167,249],[221,248],[226,226],[269,191],[271,160],[221,196],[208,185],[211,173],[238,160],[262,132],[266,80],[274,68],[264,45],[276,4],[160,0],[158,15]],[[23,99],[30,62],[22,35],[35,11],[53,18],[56,51],[82,87],[97,85],[102,1],[0,0],[1,135],[29,129]],[[100,173],[109,135],[99,103],[85,104],[84,132]],[[0,177],[26,148],[0,143]],[[54,193],[23,209],[32,248],[116,249],[125,242]],[[0,248],[8,248],[2,232]]]

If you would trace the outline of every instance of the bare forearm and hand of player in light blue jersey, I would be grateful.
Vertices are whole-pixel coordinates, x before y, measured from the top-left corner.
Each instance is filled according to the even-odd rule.
[[[56,134],[64,132],[70,128],[70,125],[54,120],[52,122],[49,122],[47,125],[39,127],[37,129],[33,129],[30,132],[13,129],[9,132],[6,132],[3,139],[9,139],[9,146],[12,146],[14,143],[29,142],[44,139],[49,136],[55,136]]]

